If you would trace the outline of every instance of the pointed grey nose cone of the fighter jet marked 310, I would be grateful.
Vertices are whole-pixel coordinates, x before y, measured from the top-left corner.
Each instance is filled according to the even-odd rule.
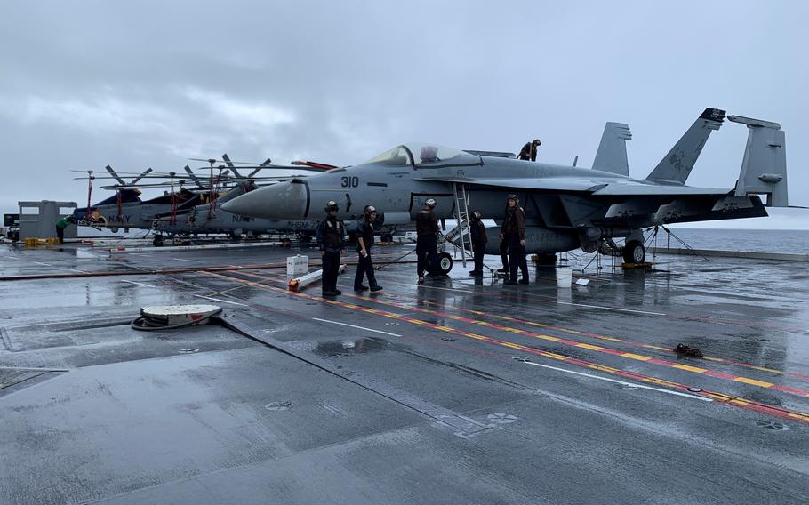
[[[279,182],[238,196],[222,210],[254,218],[296,220],[306,217],[308,188],[303,181]]]

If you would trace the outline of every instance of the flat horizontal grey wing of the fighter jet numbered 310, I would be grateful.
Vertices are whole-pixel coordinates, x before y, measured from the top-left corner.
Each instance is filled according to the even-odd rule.
[[[469,177],[425,177],[425,182],[454,182],[470,187],[504,188],[528,191],[565,191],[589,193],[593,196],[680,196],[726,195],[730,189],[693,188],[691,186],[649,184],[633,180],[599,181],[574,177],[523,179],[473,179]]]

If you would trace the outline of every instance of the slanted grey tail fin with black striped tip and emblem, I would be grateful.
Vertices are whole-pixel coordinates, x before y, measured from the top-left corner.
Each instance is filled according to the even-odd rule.
[[[669,184],[685,184],[688,175],[697,163],[702,148],[708,140],[710,132],[718,130],[725,120],[725,111],[718,108],[706,108],[691,128],[686,131],[677,144],[663,156],[661,162],[654,167],[646,180]]]

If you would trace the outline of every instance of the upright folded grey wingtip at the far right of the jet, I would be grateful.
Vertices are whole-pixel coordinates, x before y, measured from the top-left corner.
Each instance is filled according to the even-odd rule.
[[[767,206],[789,206],[787,152],[781,124],[742,116],[727,119],[749,128],[736,196],[766,195]]]

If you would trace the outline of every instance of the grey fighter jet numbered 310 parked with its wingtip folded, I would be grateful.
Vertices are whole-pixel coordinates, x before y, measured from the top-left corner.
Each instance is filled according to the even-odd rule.
[[[506,196],[514,193],[525,208],[526,252],[548,254],[580,247],[594,252],[613,237],[624,237],[624,260],[640,263],[645,260],[645,228],[766,216],[757,195],[766,195],[770,206],[788,205],[781,126],[742,116],[727,119],[749,128],[735,188],[685,185],[710,132],[725,120],[724,110],[707,108],[645,179],[629,177],[629,126],[608,123],[592,169],[412,143],[363,164],[261,188],[222,208],[296,220],[319,216],[326,202],[334,200],[340,203],[341,219],[355,219],[365,204],[372,204],[385,223],[392,223],[413,219],[425,201],[434,198],[438,217],[460,222],[461,243],[467,244],[463,224],[469,209],[500,222]],[[488,233],[486,253],[498,254],[499,229],[489,228]],[[448,270],[445,258],[441,263]]]

